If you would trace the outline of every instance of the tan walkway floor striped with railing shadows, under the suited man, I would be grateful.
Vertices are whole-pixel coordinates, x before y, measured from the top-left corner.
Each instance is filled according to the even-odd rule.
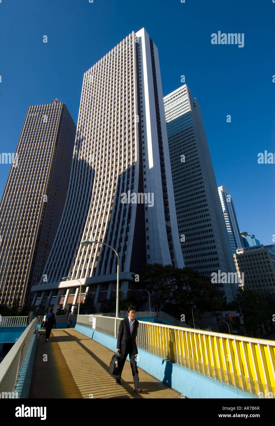
[[[45,334],[44,330],[39,330]],[[130,362],[122,386],[108,369],[113,351],[74,328],[53,328],[49,342],[39,336],[29,398],[181,398],[181,394],[138,366],[141,393],[134,391]]]

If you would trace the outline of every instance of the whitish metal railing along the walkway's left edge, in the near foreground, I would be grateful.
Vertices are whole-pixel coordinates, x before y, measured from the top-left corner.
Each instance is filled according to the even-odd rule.
[[[36,330],[37,318],[31,321],[1,362],[0,392],[14,391],[29,344]]]

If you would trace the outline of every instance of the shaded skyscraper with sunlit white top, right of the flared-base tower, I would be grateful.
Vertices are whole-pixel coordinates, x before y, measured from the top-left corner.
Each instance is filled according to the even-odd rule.
[[[199,104],[184,84],[164,109],[185,265],[206,276],[235,272]],[[236,285],[216,286],[230,302]]]

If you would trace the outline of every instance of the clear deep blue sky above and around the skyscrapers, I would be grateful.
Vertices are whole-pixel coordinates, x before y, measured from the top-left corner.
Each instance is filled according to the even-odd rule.
[[[217,184],[230,191],[240,230],[272,244],[275,164],[257,155],[275,153],[274,22],[272,0],[2,0],[0,153],[15,151],[29,105],[62,98],[77,124],[84,72],[145,27],[159,49],[163,94],[185,75],[198,99]],[[244,47],[211,44],[218,31],[244,33]],[[1,196],[9,169],[0,164]]]

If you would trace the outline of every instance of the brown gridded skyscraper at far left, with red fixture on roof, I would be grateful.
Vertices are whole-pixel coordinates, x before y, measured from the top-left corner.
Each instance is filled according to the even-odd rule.
[[[65,104],[28,107],[0,204],[0,303],[41,278],[67,196],[76,126]]]

